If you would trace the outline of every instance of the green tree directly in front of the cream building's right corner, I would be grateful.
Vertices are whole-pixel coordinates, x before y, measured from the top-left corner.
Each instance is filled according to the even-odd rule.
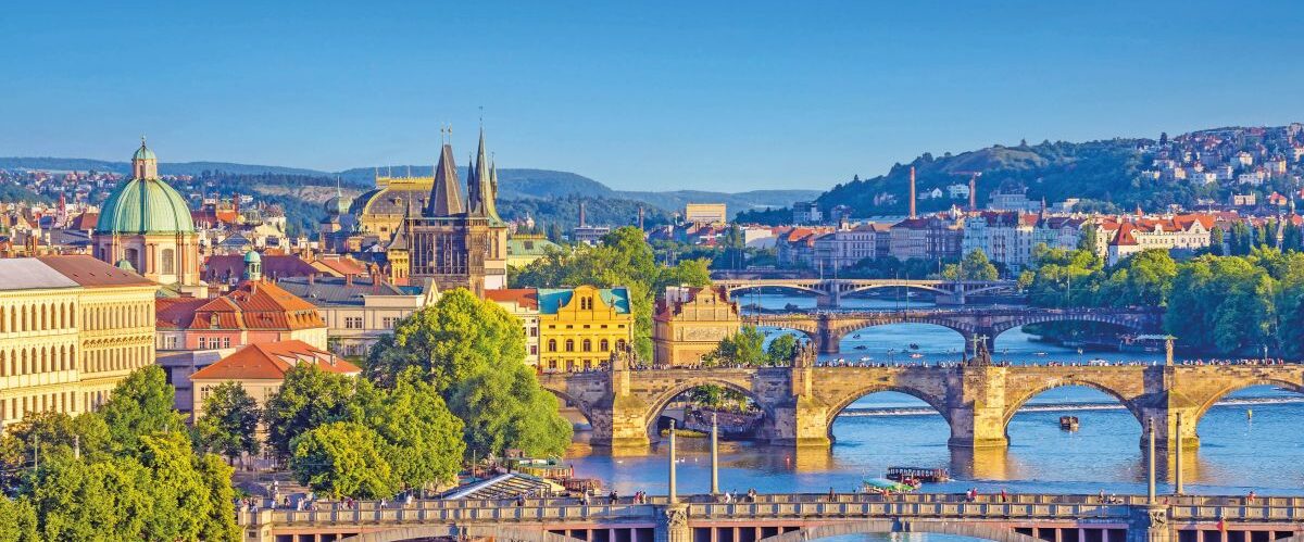
[[[149,365],[119,382],[99,413],[113,442],[136,449],[143,435],[185,429],[185,418],[172,408],[173,396],[163,367]]]

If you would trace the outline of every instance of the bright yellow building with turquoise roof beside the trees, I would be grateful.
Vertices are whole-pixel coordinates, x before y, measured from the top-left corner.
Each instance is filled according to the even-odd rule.
[[[630,291],[623,287],[539,289],[539,365],[574,371],[605,364],[634,340]]]

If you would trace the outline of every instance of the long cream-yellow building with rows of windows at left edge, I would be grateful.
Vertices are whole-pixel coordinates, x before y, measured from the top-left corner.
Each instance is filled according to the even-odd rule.
[[[154,362],[158,284],[89,255],[0,259],[0,423],[102,405]]]

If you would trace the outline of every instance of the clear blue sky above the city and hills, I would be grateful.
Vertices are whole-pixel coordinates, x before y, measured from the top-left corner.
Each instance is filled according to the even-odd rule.
[[[0,155],[828,188],[931,151],[1304,120],[1304,3],[16,3]]]

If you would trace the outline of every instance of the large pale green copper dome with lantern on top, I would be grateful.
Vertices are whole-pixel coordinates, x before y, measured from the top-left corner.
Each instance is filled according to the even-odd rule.
[[[104,201],[95,233],[194,233],[194,220],[185,198],[167,182],[133,178],[119,185]]]

